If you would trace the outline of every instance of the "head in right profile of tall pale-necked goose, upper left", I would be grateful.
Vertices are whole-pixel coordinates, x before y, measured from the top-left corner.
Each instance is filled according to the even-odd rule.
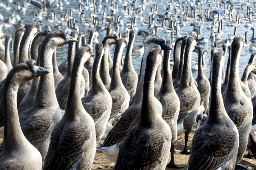
[[[63,30],[51,32],[46,36],[46,39],[49,39],[51,44],[56,47],[61,47],[70,42],[77,42],[75,38],[68,36]]]

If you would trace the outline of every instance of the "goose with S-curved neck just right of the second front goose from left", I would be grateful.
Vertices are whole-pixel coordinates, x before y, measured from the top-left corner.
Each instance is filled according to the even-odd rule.
[[[82,98],[82,104],[87,113],[93,118],[96,129],[96,142],[99,142],[108,119],[110,118],[112,98],[100,79],[100,60],[104,55],[104,48],[98,43],[96,56],[92,66],[91,92]],[[108,50],[107,50],[108,51]]]

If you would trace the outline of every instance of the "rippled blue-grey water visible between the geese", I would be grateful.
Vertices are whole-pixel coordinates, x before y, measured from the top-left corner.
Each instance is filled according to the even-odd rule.
[[[18,2],[18,4],[20,4],[20,6],[22,5],[22,2],[23,0],[16,0]],[[155,0],[153,0],[155,1]],[[100,2],[100,5],[102,6],[102,9],[101,9],[101,12],[104,11],[104,5],[106,5],[108,8],[107,8],[107,12],[108,12],[108,15],[111,14],[110,12],[110,2],[103,2],[103,1],[99,1]],[[124,4],[124,1],[123,0],[116,0],[116,2],[118,3],[118,8],[119,10],[116,12],[116,16],[118,15],[122,15],[122,10],[124,10],[123,8],[123,4]],[[130,4],[131,2],[128,0],[127,1],[128,4],[127,4],[127,7],[130,8]],[[170,1],[164,1],[164,0],[158,0],[157,3],[158,3],[158,14],[164,14],[165,13],[165,10],[166,10],[166,6],[167,5],[167,2],[170,2]],[[188,2],[187,0],[180,0],[180,2]],[[204,8],[201,9],[201,12],[204,13],[204,11],[209,8],[208,6],[208,3],[206,2],[206,0],[202,0],[203,4],[204,4]],[[93,3],[93,1],[92,1]],[[238,0],[232,0],[232,3],[234,3],[234,6],[236,8],[241,8],[241,3],[238,2]],[[60,15],[61,14],[65,14],[66,13],[66,10],[70,10],[71,8],[74,8],[74,9],[79,9],[78,7],[78,4],[79,2],[77,0],[70,0],[70,4],[66,4],[64,1],[63,1],[63,9],[60,9],[56,6],[56,4],[53,4],[51,10],[54,10],[54,12],[57,12],[57,18],[60,19]],[[137,4],[142,4],[141,1],[138,1]],[[84,2],[84,6],[85,6],[85,2]],[[253,6],[253,4],[251,4],[251,6]],[[14,4],[10,4],[10,7],[13,9],[14,8]],[[151,16],[151,14],[149,14],[149,12],[151,12],[151,7],[154,7],[153,4],[146,4],[145,6],[145,19],[144,21],[145,22],[148,22],[148,16]],[[89,17],[89,14],[90,12],[93,12],[93,10],[86,10],[85,8],[84,9],[84,13],[85,13],[85,16],[86,17]],[[240,11],[240,15],[241,14],[246,14],[246,6],[244,6],[244,10],[239,10]],[[0,7],[0,13],[3,15],[4,17],[4,20],[7,20],[8,19],[8,14],[11,13],[12,10],[6,10],[5,8],[3,7]],[[23,17],[24,18],[24,24],[28,24],[32,21],[33,19],[33,14],[32,12],[37,12],[37,8],[33,5],[29,5],[28,6],[28,9],[26,10],[26,12],[17,12],[18,15],[20,15],[20,17]],[[102,18],[102,14],[101,12],[97,12],[97,14],[99,15],[98,18]],[[172,10],[172,12],[174,12],[174,9]],[[70,11],[69,11],[69,14],[70,14]],[[177,14],[179,15],[179,12],[177,12]],[[237,10],[236,10],[236,14],[237,14]],[[44,15],[44,14],[43,14]],[[120,20],[124,20],[124,23],[126,22],[130,22],[129,19],[130,17],[134,16],[135,14],[131,14],[131,16],[124,16],[122,15],[122,18],[120,18]],[[73,12],[73,17],[76,18],[76,20],[80,20],[80,15],[78,12]],[[155,17],[157,18],[158,16],[155,15]],[[182,18],[183,18],[183,15],[182,15]],[[42,30],[44,30],[44,26],[47,24],[49,25],[51,28],[52,28],[52,31],[55,31],[56,29],[54,29],[54,25],[55,23],[54,22],[47,22],[45,19],[42,19],[41,20],[43,25],[42,25]],[[140,30],[148,30],[148,26],[141,26],[141,22],[142,20],[137,20],[137,27],[140,29]],[[194,23],[194,20],[190,20],[188,21],[188,24],[184,27],[180,27],[180,34],[182,36],[184,35],[188,35],[188,32],[192,32],[193,30],[193,27],[190,26],[191,23]],[[210,22],[212,24],[212,22]],[[200,45],[200,47],[202,47],[202,50],[207,50],[208,51],[208,54],[206,55],[205,57],[205,61],[206,63],[208,63],[209,59],[210,59],[210,51],[212,49],[211,47],[211,42],[212,40],[210,40],[210,34],[211,34],[211,30],[209,29],[206,29],[207,27],[207,24],[208,22],[204,22],[203,24],[203,28],[202,28],[202,34],[203,36],[208,36],[208,44],[205,44],[205,45]],[[162,23],[158,23],[158,26],[161,26]],[[168,24],[166,24],[167,26]],[[84,31],[86,32],[86,40],[88,41],[89,39],[89,32],[88,30],[92,29],[92,28],[89,28],[88,26],[83,26],[81,23],[78,23],[78,26],[79,26],[79,29],[80,29],[80,32]],[[237,26],[238,29],[237,29],[237,36],[242,36],[244,38],[245,36],[245,32],[248,31],[248,40],[250,40],[250,38],[252,37],[252,31],[250,30],[250,27],[244,27],[245,24],[242,23],[240,26]],[[120,26],[120,32],[121,33],[124,33],[126,32],[126,26]],[[112,29],[115,29],[114,27],[112,27]],[[198,28],[199,29],[199,28]],[[12,35],[12,38],[14,39],[14,34],[15,34],[15,31],[16,31],[16,28],[14,27],[3,27],[3,31],[4,31],[4,36],[8,35],[8,34],[11,34]],[[150,31],[150,30],[148,30]],[[101,42],[103,40],[103,38],[106,36],[106,31],[98,31],[99,32],[99,36],[98,36],[98,41]],[[228,27],[226,26],[226,23],[224,22],[224,34],[222,35],[222,40],[226,40],[226,38],[228,38],[228,34],[231,34],[233,35],[234,33],[234,27]],[[169,38],[171,39],[171,33],[164,33],[162,31],[158,31],[158,36],[163,36],[164,38]],[[138,47],[140,45],[142,45],[142,40],[143,40],[143,37],[142,36],[136,36],[135,38],[135,42],[134,42],[134,47]],[[149,37],[147,38],[147,40],[149,40]],[[245,39],[244,39],[245,40]],[[220,40],[217,40],[217,42],[219,42]],[[230,44],[232,43],[232,41],[230,41]],[[250,43],[250,42],[249,42]],[[218,49],[221,49],[221,47],[218,47]],[[114,49],[112,49],[112,47],[110,47],[110,50],[111,50],[111,53],[114,53]],[[124,49],[124,53],[125,53],[125,50]],[[241,56],[240,56],[240,65],[239,65],[239,69],[240,69],[240,77],[242,77],[242,74],[244,72],[244,69],[248,63],[248,60],[250,58],[250,55],[251,53],[253,53],[254,51],[249,51],[249,47],[247,48],[242,48],[242,53],[241,53]],[[68,53],[68,45],[64,45],[62,47],[59,47],[57,49],[57,61],[58,61],[58,65],[60,65],[60,63],[62,63],[63,61],[66,60],[66,57],[67,57],[67,53]],[[133,66],[134,66],[134,69],[137,73],[139,73],[140,71],[140,62],[141,62],[141,59],[142,59],[142,55],[143,53],[133,53],[132,54],[132,62],[133,62]],[[12,54],[11,54],[11,57]],[[226,62],[227,62],[227,58],[228,58],[228,53],[226,54],[226,61],[225,61],[225,69],[226,69]],[[171,58],[170,59],[173,59],[173,53],[171,54]],[[195,61],[196,63],[198,62],[198,56],[196,53],[193,53],[192,55],[192,61]],[[210,65],[207,65],[207,70],[205,72],[206,74],[206,77],[209,77],[209,73],[210,73]],[[171,67],[172,69],[172,67]],[[196,76],[197,76],[197,71],[192,71],[193,72],[193,77],[194,79],[196,79]]]

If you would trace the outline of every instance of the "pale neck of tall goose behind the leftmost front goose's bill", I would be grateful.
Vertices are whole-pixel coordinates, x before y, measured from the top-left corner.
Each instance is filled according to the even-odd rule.
[[[51,41],[43,42],[40,49],[40,66],[48,69],[50,73],[41,75],[38,84],[38,90],[34,105],[47,107],[49,105],[58,104],[55,88],[52,67],[52,54],[57,47],[54,47]]]

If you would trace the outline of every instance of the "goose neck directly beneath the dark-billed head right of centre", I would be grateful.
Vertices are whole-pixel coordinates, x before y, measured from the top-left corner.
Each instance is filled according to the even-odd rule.
[[[174,87],[172,84],[172,71],[170,69],[170,54],[172,51],[164,50],[164,57],[163,57],[163,79],[162,85],[160,87],[159,92],[161,93],[170,93],[174,91]]]

